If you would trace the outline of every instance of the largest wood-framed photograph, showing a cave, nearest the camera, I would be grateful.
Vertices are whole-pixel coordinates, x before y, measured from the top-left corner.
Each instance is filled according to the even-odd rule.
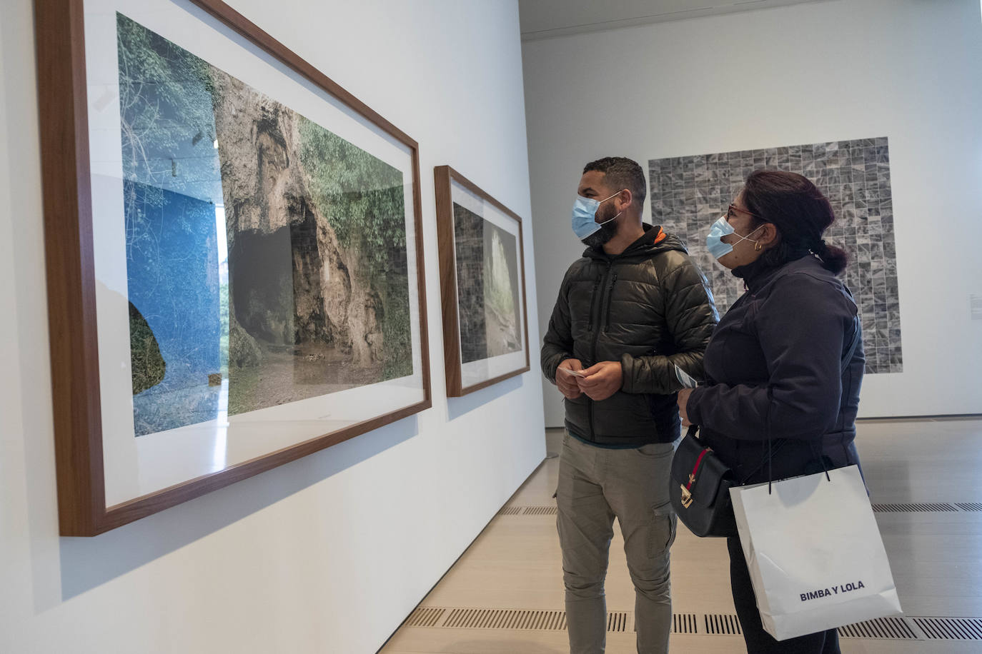
[[[431,406],[416,142],[218,0],[36,0],[61,533]]]

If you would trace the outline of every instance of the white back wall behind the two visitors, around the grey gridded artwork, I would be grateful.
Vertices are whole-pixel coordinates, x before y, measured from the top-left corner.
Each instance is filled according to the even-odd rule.
[[[583,250],[586,162],[626,156],[647,176],[650,159],[887,136],[903,373],[867,376],[860,416],[982,412],[977,0],[823,0],[528,41],[523,62],[542,333]]]

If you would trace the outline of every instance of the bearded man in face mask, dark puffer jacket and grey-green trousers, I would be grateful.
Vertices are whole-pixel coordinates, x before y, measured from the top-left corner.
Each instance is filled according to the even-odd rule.
[[[645,181],[636,162],[587,164],[577,193],[573,231],[587,250],[563,279],[542,346],[542,370],[566,397],[556,522],[570,649],[604,651],[604,578],[617,517],[637,651],[664,654],[676,534],[668,479],[682,388],[675,367],[702,377],[718,315],[682,241],[641,223]]]

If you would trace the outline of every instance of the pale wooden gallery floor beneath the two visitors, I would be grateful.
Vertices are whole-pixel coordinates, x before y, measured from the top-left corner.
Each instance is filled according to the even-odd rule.
[[[561,432],[549,430],[546,438],[548,450],[558,452]],[[874,504],[982,502],[982,421],[863,422],[857,444]],[[564,609],[556,518],[548,514],[555,507],[558,467],[558,459],[547,459],[506,505],[543,507],[545,515],[528,515],[522,508],[519,515],[497,516],[421,608]],[[877,520],[908,618],[982,617],[982,511],[878,513]],[[696,538],[680,523],[672,580],[674,613],[696,614],[700,623],[705,614],[734,614],[723,540]],[[606,589],[608,611],[628,614],[627,631],[608,633],[607,651],[633,652],[634,594],[617,530]],[[454,629],[442,626],[449,615],[442,614],[432,627],[404,626],[381,653],[569,651],[564,630]],[[920,639],[843,638],[842,649],[849,654],[982,653],[982,639],[927,639],[914,632]],[[673,653],[745,651],[738,635],[701,628],[695,634],[674,633],[671,647]]]

